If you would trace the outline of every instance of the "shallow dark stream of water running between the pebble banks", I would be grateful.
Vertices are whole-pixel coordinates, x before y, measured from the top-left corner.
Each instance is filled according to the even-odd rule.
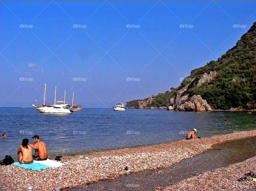
[[[214,145],[213,149],[193,158],[185,159],[171,167],[146,170],[129,176],[122,175],[111,181],[98,181],[93,184],[63,189],[63,191],[153,190],[155,187],[166,187],[194,175],[199,175],[203,171],[226,167],[229,164],[238,163],[255,156],[256,148],[252,147],[251,144],[256,145],[256,137]]]

